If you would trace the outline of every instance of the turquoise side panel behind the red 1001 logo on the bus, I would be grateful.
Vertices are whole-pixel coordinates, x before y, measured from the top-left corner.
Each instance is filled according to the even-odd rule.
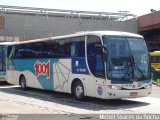
[[[49,62],[49,76],[47,73],[45,73],[45,64]],[[37,77],[37,80],[41,84],[41,86],[46,90],[53,90],[53,64],[57,63],[58,59],[32,59],[32,60],[13,60],[13,64],[15,66],[15,69],[23,72],[25,70],[28,70],[32,72],[35,77]],[[35,65],[37,64],[37,68],[35,68]],[[42,67],[43,65],[43,67]],[[39,69],[38,69],[39,68]],[[40,70],[42,70],[40,73]],[[37,71],[36,71],[37,70]],[[39,72],[39,73],[38,73]]]

